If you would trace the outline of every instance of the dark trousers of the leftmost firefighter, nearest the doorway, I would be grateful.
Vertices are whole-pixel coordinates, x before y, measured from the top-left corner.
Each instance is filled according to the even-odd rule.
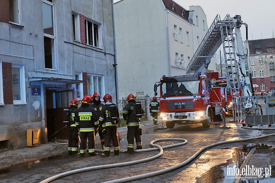
[[[76,126],[69,127],[68,152],[69,155],[77,154],[79,130]]]

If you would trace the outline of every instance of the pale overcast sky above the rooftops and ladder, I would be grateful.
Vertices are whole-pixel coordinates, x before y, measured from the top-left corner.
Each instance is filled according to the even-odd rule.
[[[117,1],[119,0],[114,0]],[[208,27],[217,14],[221,16],[221,20],[227,14],[231,17],[240,15],[242,21],[248,24],[248,40],[272,38],[275,31],[275,0],[174,0],[174,2],[187,10],[189,6],[199,5],[206,14]],[[241,34],[244,41],[246,34],[244,26],[241,27]]]

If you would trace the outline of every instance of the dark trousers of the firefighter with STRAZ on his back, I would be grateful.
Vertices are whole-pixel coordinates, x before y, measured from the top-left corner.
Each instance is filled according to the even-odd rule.
[[[89,131],[89,132],[82,131],[80,133],[80,153],[86,154],[87,138],[88,138],[89,153],[94,152],[94,149],[95,149],[94,131]]]

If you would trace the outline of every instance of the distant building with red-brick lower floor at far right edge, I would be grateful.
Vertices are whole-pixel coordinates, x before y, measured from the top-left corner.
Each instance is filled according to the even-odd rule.
[[[249,64],[253,84],[259,85],[255,91],[270,91],[275,88],[275,38],[249,41]]]

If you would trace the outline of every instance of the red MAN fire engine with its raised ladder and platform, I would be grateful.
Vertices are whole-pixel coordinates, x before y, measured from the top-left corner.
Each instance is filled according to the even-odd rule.
[[[246,40],[242,41],[240,27],[246,27]],[[213,77],[207,73],[211,58],[222,45],[227,87],[212,87]],[[238,59],[237,59],[238,58]],[[234,120],[244,122],[243,126],[258,124],[271,125],[275,120],[275,110],[258,105],[254,95],[249,66],[248,25],[240,15],[224,20],[217,15],[204,39],[186,68],[186,75],[169,76],[154,85],[155,95],[160,86],[160,118],[168,128],[176,123],[202,123],[209,128],[211,120],[222,121],[225,110],[226,90],[231,92]],[[207,73],[207,75],[204,75]],[[252,91],[252,92],[251,92]],[[236,117],[237,113],[237,117]]]

